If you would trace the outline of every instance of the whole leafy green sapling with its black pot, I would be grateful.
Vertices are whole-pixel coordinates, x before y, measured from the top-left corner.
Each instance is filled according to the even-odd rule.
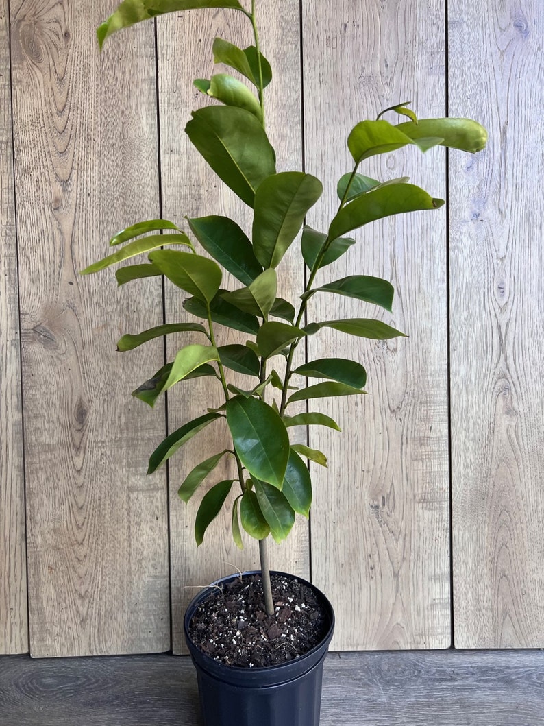
[[[359,171],[363,162],[407,144],[423,151],[442,144],[477,152],[487,134],[468,119],[418,120],[405,103],[382,111],[375,121],[360,121],[347,139],[353,168],[338,181],[338,209],[329,229],[304,226],[306,213],[318,202],[323,187],[312,174],[276,172],[276,152],[266,135],[264,111],[272,71],[260,51],[255,0],[250,8],[242,3],[125,0],[97,32],[102,47],[116,30],[141,20],[204,7],[232,9],[251,23],[255,43],[246,49],[215,39],[215,62],[234,69],[237,77],[221,72],[194,81],[197,89],[218,103],[194,111],[185,129],[213,171],[252,208],[251,233],[246,234],[236,221],[214,214],[187,218],[186,229],[162,219],[141,221],[115,234],[110,245],[117,249],[83,273],[99,272],[147,253],[143,264],[118,269],[118,283],[164,275],[189,295],[184,309],[190,322],[169,322],[123,335],[118,341],[118,349],[128,351],[170,333],[200,337],[199,342],[182,347],[133,396],[153,406],[161,393],[179,381],[200,376],[215,378],[222,393],[221,401],[210,399],[205,415],[185,423],[154,449],[148,469],[153,473],[199,431],[223,420],[232,445],[206,452],[204,460],[187,472],[179,495],[187,502],[223,457],[231,457],[231,478],[214,483],[202,496],[195,521],[197,544],[223,506],[231,507],[236,544],[242,547],[242,529],[259,542],[258,573],[218,581],[197,595],[186,613],[186,639],[197,665],[206,725],[317,726],[322,664],[334,613],[326,597],[309,583],[285,574],[271,575],[266,543],[270,535],[278,542],[285,539],[295,515],[308,517],[312,487],[305,460],[325,461],[321,452],[292,444],[289,429],[295,425],[339,428],[326,415],[293,413],[289,407],[325,396],[358,396],[365,392],[366,371],[360,362],[339,357],[297,365],[294,354],[305,338],[319,335],[323,327],[374,340],[403,335],[379,319],[312,318],[310,301],[316,294],[347,295],[390,310],[393,288],[387,280],[364,274],[335,279],[332,274],[329,282],[317,284],[318,273],[348,252],[355,240],[346,235],[353,230],[393,214],[443,204],[407,179],[379,181],[364,176]],[[386,112],[396,112],[408,121],[385,121]],[[278,276],[284,254],[301,231],[307,274],[301,265],[300,297],[293,305],[277,296]],[[224,271],[236,279],[234,289],[223,287]],[[238,331],[240,342],[218,345],[220,326]],[[235,385],[231,372],[242,374],[246,383]],[[308,379],[318,383],[307,386]]]

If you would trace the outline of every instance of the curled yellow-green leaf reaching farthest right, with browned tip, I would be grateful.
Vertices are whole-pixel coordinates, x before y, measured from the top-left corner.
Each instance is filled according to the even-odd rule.
[[[440,137],[441,146],[475,153],[487,142],[487,131],[471,118],[421,118],[418,123],[407,121],[396,127],[414,141]]]

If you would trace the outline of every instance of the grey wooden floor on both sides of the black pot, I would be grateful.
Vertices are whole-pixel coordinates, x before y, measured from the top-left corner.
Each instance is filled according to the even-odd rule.
[[[196,678],[168,655],[0,657],[0,724],[199,726]],[[321,726],[340,724],[544,725],[544,651],[331,653]]]

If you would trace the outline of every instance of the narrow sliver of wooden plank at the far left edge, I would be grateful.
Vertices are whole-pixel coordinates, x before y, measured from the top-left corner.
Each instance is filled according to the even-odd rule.
[[[7,0],[0,2],[0,653],[28,651],[17,238]]]

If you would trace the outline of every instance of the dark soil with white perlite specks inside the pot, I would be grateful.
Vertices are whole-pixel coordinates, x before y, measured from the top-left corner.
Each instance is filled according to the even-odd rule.
[[[299,658],[323,640],[329,619],[315,592],[291,576],[271,574],[275,613],[265,613],[260,575],[215,589],[191,618],[194,645],[216,661],[262,668]]]

